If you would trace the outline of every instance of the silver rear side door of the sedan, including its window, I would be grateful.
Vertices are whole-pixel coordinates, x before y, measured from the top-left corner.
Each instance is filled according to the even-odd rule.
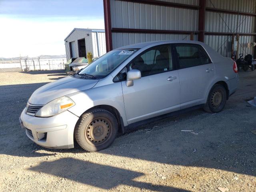
[[[198,44],[173,44],[173,52],[180,75],[181,109],[204,103],[215,80],[210,57]]]

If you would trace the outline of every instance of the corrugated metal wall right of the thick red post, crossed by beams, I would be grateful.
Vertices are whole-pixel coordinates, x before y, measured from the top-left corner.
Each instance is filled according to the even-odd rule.
[[[206,7],[239,12],[256,12],[255,0],[206,0]],[[255,17],[206,11],[205,31],[208,32],[255,32]],[[238,54],[254,55],[254,47],[247,48],[247,43],[255,42],[255,36],[240,36]],[[232,36],[206,35],[205,43],[222,56],[231,57]]]

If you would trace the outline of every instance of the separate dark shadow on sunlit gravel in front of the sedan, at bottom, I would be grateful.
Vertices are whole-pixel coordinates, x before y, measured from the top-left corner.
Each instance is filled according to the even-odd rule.
[[[42,162],[40,165],[32,167],[29,170],[60,176],[106,190],[123,184],[159,192],[189,192],[188,190],[172,188],[169,186],[134,181],[135,178],[144,175],[140,172],[77,160],[74,158],[62,158],[53,162]],[[72,170],[72,173],[70,170]]]

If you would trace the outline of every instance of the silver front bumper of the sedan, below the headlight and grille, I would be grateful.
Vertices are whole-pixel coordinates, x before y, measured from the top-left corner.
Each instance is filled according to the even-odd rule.
[[[74,147],[74,128],[78,119],[78,116],[69,111],[40,118],[30,116],[23,110],[20,125],[25,128],[28,138],[36,144],[46,148],[64,149]]]

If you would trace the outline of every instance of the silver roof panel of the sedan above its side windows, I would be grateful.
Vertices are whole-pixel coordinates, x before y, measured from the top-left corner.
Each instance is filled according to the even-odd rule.
[[[126,45],[123,47],[119,47],[116,49],[130,49],[130,48],[144,48],[147,46],[156,46],[161,44],[168,44],[168,43],[191,43],[191,44],[200,44],[204,45],[204,43],[199,41],[190,41],[190,40],[165,40],[165,41],[150,41],[150,42],[143,42],[137,44]]]

